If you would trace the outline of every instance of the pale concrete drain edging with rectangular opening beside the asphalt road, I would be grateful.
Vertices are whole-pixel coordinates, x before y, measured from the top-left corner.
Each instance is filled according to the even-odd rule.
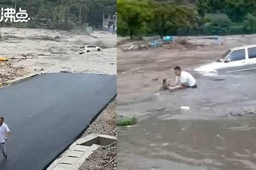
[[[92,144],[91,146],[84,146],[83,144],[90,141],[95,142],[97,138],[112,140],[112,143],[117,141],[117,137],[113,136],[100,134],[87,135],[76,140],[63,154],[60,155],[58,159],[56,159],[47,168],[47,170],[78,170],[83,165],[86,158],[88,158],[96,149],[102,147],[99,144]]]

